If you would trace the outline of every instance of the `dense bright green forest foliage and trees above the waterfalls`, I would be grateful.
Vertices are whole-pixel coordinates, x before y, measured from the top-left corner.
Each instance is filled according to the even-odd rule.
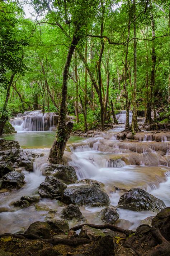
[[[146,123],[151,111],[169,120],[168,1],[13,0],[0,1],[0,12],[1,123],[38,109],[76,115],[82,131],[103,130],[120,109],[126,128],[129,110],[145,111]]]

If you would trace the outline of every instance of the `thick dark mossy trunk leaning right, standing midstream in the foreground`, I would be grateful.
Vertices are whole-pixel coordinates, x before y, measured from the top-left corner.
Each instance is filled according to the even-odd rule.
[[[49,152],[49,162],[55,164],[62,164],[62,156],[66,147],[66,143],[70,137],[70,132],[73,127],[72,122],[66,124],[66,114],[67,114],[67,81],[69,76],[69,67],[72,59],[72,55],[78,44],[79,38],[73,36],[70,45],[69,52],[67,54],[67,60],[63,71],[63,83],[62,83],[62,93],[61,93],[61,106],[59,113],[59,121],[57,128],[57,137],[51,147]]]

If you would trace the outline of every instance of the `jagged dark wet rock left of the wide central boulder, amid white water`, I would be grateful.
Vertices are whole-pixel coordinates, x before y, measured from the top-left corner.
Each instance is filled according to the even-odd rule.
[[[42,198],[55,198],[60,199],[66,185],[53,176],[47,176],[45,181],[38,187],[38,193]]]

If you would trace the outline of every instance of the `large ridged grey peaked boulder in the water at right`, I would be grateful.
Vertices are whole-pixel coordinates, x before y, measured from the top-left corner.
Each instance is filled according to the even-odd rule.
[[[162,200],[147,193],[145,190],[134,188],[121,196],[118,207],[132,211],[148,210],[158,212],[166,206]]]

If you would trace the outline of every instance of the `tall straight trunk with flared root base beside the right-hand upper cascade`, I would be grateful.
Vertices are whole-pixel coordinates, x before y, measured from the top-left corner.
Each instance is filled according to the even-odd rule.
[[[133,81],[133,116],[132,116],[132,124],[130,127],[130,131],[134,134],[135,132],[139,132],[137,124],[137,109],[136,109],[136,90],[137,90],[137,56],[136,56],[136,3],[133,0],[133,55],[134,55],[134,81]]]

